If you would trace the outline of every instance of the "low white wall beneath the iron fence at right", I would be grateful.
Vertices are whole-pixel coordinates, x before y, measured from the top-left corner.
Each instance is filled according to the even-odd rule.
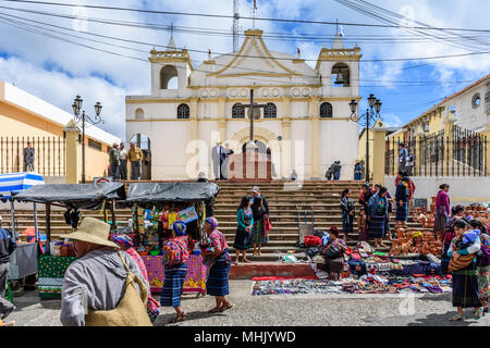
[[[395,191],[394,176],[385,177],[385,186],[390,192]],[[413,176],[415,184],[415,198],[434,197],[439,191],[439,185],[451,186],[449,195],[451,203],[456,202],[489,202],[490,201],[490,177],[420,177]]]

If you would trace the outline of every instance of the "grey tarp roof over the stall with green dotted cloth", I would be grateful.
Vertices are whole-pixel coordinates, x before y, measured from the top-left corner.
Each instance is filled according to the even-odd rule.
[[[124,184],[48,184],[34,186],[14,196],[15,200],[37,203],[72,203],[86,208],[100,203],[105,199],[125,199]]]

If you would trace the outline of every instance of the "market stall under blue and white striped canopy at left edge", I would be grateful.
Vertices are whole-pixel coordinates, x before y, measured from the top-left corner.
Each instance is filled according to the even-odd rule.
[[[33,186],[44,184],[42,176],[37,173],[0,175],[0,200],[10,206],[10,233],[17,241],[17,248],[10,256],[9,281],[24,279],[29,276],[35,276],[38,272],[38,244],[41,240],[37,228],[37,207],[36,203],[33,204],[34,228],[28,228],[32,235],[24,235],[16,228],[15,202],[13,197]]]

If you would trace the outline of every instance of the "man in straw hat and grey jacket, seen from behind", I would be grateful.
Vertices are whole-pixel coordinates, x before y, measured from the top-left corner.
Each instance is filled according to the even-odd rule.
[[[60,320],[64,326],[84,326],[89,311],[107,311],[119,304],[127,276],[120,256],[149,289],[136,261],[126,252],[117,252],[119,246],[109,240],[109,224],[85,217],[78,229],[68,235],[74,240],[78,260],[63,278]],[[142,294],[139,287],[137,290]]]

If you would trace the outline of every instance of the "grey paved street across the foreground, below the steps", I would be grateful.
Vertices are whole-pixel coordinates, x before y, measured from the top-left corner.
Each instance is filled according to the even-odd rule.
[[[490,326],[490,315],[451,323],[455,314],[451,294],[443,295],[272,295],[250,296],[252,281],[230,281],[234,307],[223,313],[208,313],[215,306],[210,296],[184,295],[187,320],[168,324],[172,308],[162,308],[156,326]],[[157,300],[159,299],[156,296]],[[16,326],[60,326],[60,300],[40,300],[37,290],[14,297],[17,310],[8,321]]]

